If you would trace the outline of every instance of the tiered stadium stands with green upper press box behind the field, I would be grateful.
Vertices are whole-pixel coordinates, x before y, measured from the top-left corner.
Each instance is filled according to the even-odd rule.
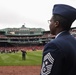
[[[43,46],[54,36],[42,28],[5,28],[0,30],[0,50],[24,48],[25,50],[42,50]],[[4,50],[4,49],[3,49]]]

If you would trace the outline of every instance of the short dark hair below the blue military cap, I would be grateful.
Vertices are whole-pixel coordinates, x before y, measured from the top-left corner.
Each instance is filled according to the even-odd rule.
[[[63,16],[60,16],[58,14],[53,15],[53,20],[58,21],[63,30],[70,30],[70,27],[72,25],[72,21],[67,20]]]

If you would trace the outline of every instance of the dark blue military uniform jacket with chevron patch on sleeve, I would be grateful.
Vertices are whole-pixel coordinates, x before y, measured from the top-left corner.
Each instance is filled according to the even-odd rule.
[[[40,75],[76,75],[76,39],[69,32],[45,45]]]

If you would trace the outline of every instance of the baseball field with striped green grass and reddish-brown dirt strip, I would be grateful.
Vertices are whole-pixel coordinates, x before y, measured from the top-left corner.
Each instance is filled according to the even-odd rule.
[[[39,75],[42,51],[27,51],[26,60],[21,52],[0,53],[0,75]]]

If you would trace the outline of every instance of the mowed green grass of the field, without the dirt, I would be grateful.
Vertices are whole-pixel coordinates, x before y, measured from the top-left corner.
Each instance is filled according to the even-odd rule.
[[[0,66],[41,65],[42,51],[28,51],[26,60],[22,60],[21,52],[0,53]]]

